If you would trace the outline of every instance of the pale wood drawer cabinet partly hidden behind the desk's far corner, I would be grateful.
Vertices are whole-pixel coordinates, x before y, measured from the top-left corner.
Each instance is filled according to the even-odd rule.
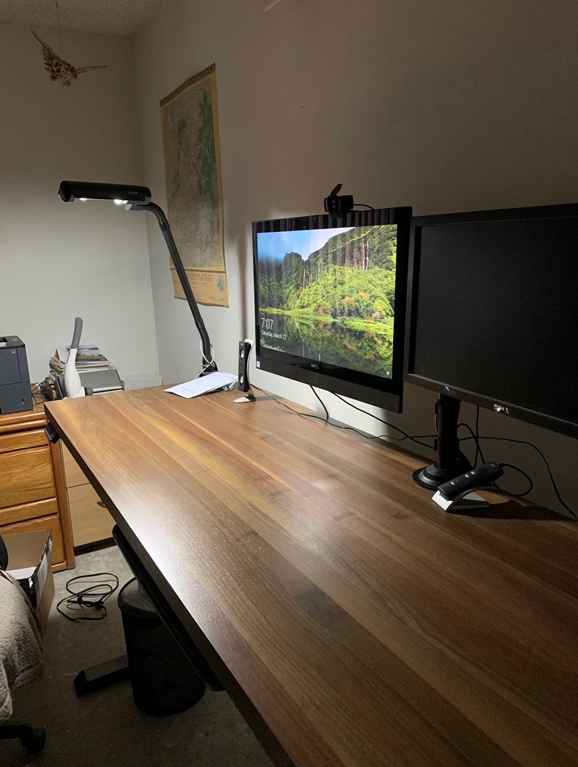
[[[112,538],[113,518],[103,507],[97,492],[62,443],[61,449],[74,545],[84,546]]]

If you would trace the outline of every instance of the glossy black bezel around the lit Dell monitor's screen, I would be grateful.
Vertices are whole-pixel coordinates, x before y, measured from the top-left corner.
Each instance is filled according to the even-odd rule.
[[[345,216],[315,214],[284,219],[263,219],[252,222],[253,285],[255,300],[255,361],[258,370],[265,370],[289,380],[318,387],[332,393],[350,397],[363,403],[383,407],[393,413],[402,412],[403,376],[405,351],[405,324],[407,276],[409,264],[409,229],[412,209],[408,206],[352,210]],[[320,363],[317,370],[306,361],[291,364],[290,355],[261,346],[261,321],[259,314],[258,232],[304,231],[307,229],[332,229],[350,226],[397,225],[396,248],[396,309],[393,319],[392,377],[382,378],[360,374],[355,370]]]

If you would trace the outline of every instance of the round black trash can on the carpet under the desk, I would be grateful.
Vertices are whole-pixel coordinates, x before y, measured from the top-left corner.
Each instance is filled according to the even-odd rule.
[[[198,703],[205,683],[136,578],[124,584],[118,604],[136,705],[146,713],[164,716]]]

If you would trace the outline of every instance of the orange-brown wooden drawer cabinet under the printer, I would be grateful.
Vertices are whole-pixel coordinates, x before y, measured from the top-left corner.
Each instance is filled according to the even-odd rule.
[[[60,448],[44,433],[44,408],[0,415],[0,535],[52,533],[52,568],[74,568]]]

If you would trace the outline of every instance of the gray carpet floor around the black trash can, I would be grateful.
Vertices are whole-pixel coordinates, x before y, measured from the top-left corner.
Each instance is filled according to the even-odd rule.
[[[108,571],[120,586],[132,578],[116,546],[77,557],[77,567],[54,575],[56,595],[48,619],[44,679],[16,691],[13,721],[43,727],[47,733],[38,767],[271,767],[227,693],[207,690],[176,716],[149,716],[138,709],[130,681],[78,697],[74,676],[96,663],[122,655],[123,627],[117,594],[107,601],[103,621],[72,623],[57,614],[65,584],[75,575]],[[0,765],[28,764],[18,742],[0,742]]]

